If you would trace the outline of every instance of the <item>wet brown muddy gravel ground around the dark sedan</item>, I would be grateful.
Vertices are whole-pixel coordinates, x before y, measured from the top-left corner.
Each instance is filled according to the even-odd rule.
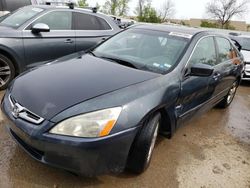
[[[250,82],[240,86],[228,109],[212,109],[172,139],[159,138],[149,169],[139,176],[84,178],[40,164],[17,146],[4,124],[0,115],[0,188],[250,188]]]

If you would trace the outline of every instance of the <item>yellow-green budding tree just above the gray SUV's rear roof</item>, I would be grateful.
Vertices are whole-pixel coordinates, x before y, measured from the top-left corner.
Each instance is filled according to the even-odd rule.
[[[124,16],[128,12],[128,3],[130,0],[106,0],[102,11],[106,14],[115,16]]]

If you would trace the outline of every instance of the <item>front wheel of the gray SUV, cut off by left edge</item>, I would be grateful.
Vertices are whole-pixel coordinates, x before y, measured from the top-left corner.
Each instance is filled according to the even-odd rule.
[[[6,89],[14,77],[15,67],[12,61],[0,54],[0,90]]]

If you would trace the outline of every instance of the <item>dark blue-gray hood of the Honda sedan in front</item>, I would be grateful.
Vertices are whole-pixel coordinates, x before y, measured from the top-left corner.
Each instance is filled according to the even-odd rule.
[[[10,92],[19,104],[50,120],[80,102],[158,76],[86,54],[25,73]]]

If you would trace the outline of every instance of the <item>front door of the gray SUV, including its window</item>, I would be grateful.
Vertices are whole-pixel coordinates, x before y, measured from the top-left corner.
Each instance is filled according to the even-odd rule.
[[[44,23],[50,32],[34,34],[31,28]],[[46,13],[23,31],[26,63],[34,66],[75,52],[75,31],[72,30],[72,12],[57,10]]]

